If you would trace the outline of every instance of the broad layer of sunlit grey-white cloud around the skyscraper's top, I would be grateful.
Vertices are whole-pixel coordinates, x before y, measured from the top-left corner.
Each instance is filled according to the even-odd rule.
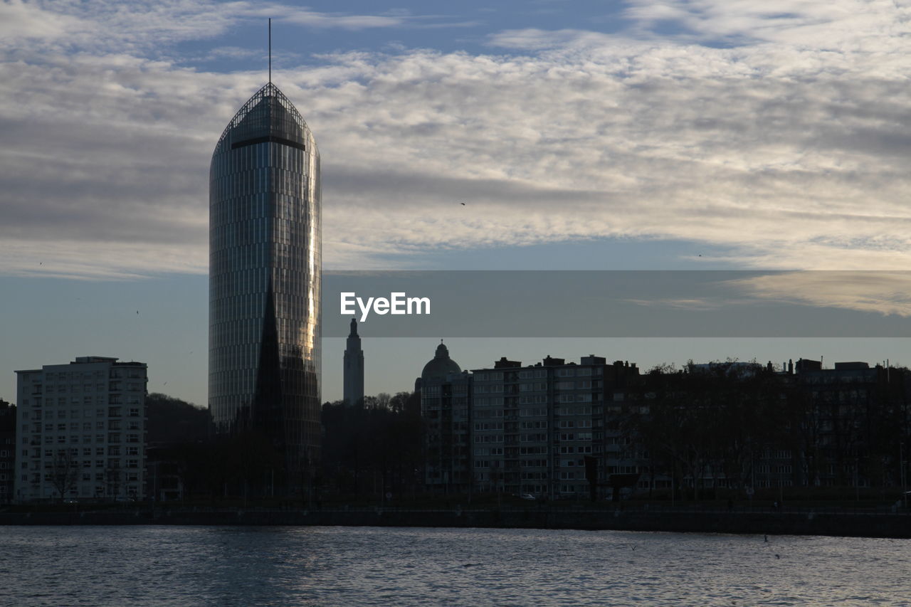
[[[115,273],[205,272],[211,149],[262,76],[179,67],[142,44],[210,36],[271,5],[220,5],[205,33],[209,3],[94,5],[91,21],[62,2],[46,45],[0,62],[0,272],[34,265],[7,249],[66,263],[79,242]],[[829,26],[811,5],[792,17],[675,3],[685,30],[646,36],[660,6],[632,5],[622,35],[491,38],[518,53],[346,53],[283,70],[322,152],[327,266],[648,237],[720,245],[744,267],[908,267],[905,10],[871,3],[848,32],[848,0]],[[119,42],[86,42],[118,19]],[[753,29],[730,47],[699,40]],[[127,254],[141,262],[124,269]]]

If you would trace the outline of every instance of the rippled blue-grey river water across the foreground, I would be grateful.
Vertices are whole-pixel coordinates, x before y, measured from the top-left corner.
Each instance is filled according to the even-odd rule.
[[[0,604],[911,605],[911,540],[373,527],[0,527]]]

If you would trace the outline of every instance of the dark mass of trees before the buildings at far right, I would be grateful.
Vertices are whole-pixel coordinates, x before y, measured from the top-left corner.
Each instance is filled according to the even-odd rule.
[[[877,368],[872,381],[807,378],[731,361],[660,365],[612,423],[638,449],[647,477],[670,476],[693,499],[703,487],[752,488],[761,465],[764,478],[787,486],[899,487],[908,370]]]

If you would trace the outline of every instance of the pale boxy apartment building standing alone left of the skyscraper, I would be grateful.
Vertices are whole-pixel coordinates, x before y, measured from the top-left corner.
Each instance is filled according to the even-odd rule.
[[[79,356],[15,373],[16,501],[144,498],[145,363]]]

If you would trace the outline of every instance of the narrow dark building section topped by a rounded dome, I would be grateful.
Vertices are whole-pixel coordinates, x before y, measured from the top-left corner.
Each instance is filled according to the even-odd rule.
[[[415,389],[421,393],[421,417],[426,427],[426,487],[446,493],[467,490],[471,482],[471,376],[449,357],[449,349],[441,341],[434,357],[424,365]]]

